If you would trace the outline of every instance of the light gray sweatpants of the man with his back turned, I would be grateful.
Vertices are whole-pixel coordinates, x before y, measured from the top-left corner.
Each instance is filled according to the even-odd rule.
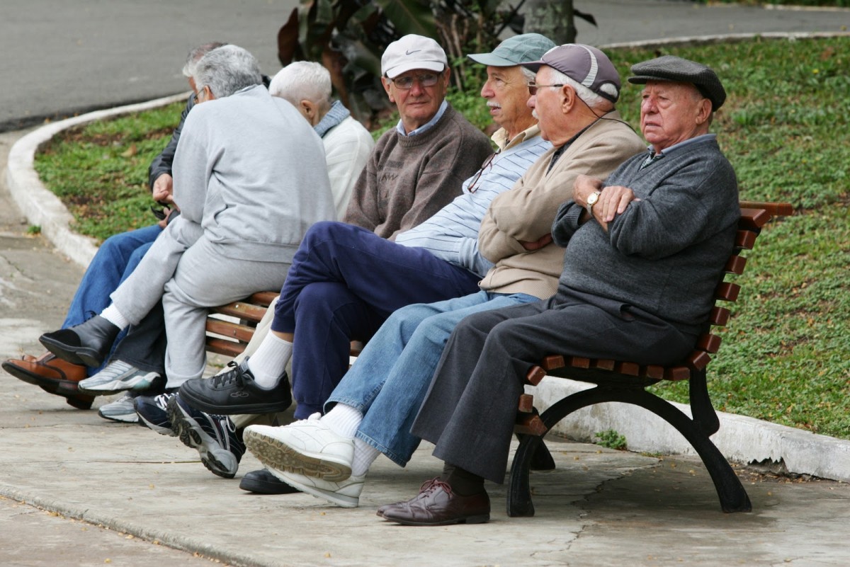
[[[178,219],[179,220],[179,219]],[[256,291],[280,289],[288,262],[249,261],[221,254],[199,225],[173,223],[111,299],[132,323],[162,300],[168,340],[167,387],[200,378],[206,368],[207,308]]]

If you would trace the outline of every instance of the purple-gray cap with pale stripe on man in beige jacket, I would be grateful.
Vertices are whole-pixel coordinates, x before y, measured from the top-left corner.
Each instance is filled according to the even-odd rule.
[[[548,65],[612,103],[620,98],[620,75],[608,59],[608,55],[598,48],[583,43],[564,43],[543,53],[543,56],[536,61],[527,61],[519,65],[535,72],[541,68],[541,65]],[[603,90],[605,85],[610,85],[613,89],[609,87],[606,92]],[[611,93],[611,90],[614,90],[616,94]]]

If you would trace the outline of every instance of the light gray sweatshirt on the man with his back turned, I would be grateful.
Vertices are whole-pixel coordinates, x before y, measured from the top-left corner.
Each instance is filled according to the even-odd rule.
[[[174,156],[175,222],[229,258],[292,261],[314,222],[336,220],[321,139],[263,85],[198,104]]]

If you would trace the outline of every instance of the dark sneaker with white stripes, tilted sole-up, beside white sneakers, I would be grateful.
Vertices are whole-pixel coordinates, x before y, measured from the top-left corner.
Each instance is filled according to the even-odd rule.
[[[241,430],[226,415],[212,415],[191,407],[180,395],[167,402],[168,418],[180,441],[201,455],[212,474],[232,479],[245,454]]]

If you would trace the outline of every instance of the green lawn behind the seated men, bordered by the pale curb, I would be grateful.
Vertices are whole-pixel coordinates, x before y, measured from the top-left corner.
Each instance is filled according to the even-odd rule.
[[[735,166],[741,198],[789,201],[798,210],[762,233],[737,278],[743,293],[708,367],[715,406],[844,439],[850,439],[850,136],[839,125],[850,115],[847,53],[847,37],[609,53],[624,77],[630,65],[656,54],[711,65],[729,95],[712,129]],[[450,100],[485,127],[490,119],[479,87]],[[636,128],[639,97],[640,88],[626,84],[618,104]],[[144,113],[141,122],[88,126],[37,156],[42,179],[80,218],[77,230],[105,238],[153,221],[147,165],[181,106]],[[655,389],[688,401],[687,385]]]

